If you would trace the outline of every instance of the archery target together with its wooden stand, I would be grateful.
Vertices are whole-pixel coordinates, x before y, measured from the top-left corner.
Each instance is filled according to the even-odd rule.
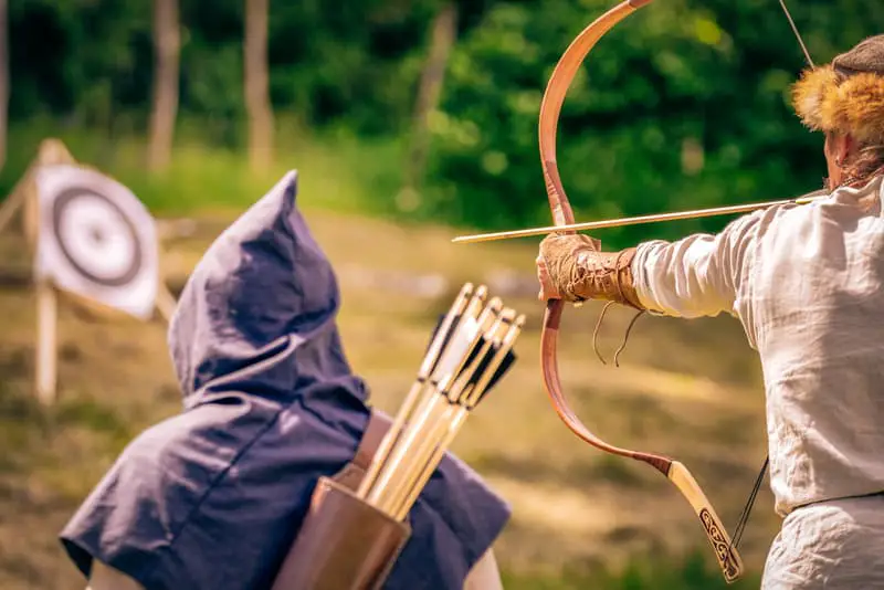
[[[32,255],[36,298],[34,389],[56,393],[57,294],[88,312],[169,322],[175,296],[160,276],[154,218],[125,186],[78,164],[64,144],[44,140],[0,207],[0,232],[17,211]]]

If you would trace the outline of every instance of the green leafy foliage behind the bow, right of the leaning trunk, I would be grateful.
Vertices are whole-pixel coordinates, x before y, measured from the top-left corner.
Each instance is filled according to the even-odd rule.
[[[869,1],[790,2],[818,62],[884,31]],[[544,220],[537,148],[543,91],[567,44],[610,0],[496,3],[456,49],[434,122],[428,217],[516,226]],[[822,138],[789,105],[806,66],[779,4],[667,0],[590,53],[566,98],[558,161],[578,219],[781,199],[821,185]],[[715,229],[723,220],[677,229]],[[648,226],[606,232],[621,243]]]

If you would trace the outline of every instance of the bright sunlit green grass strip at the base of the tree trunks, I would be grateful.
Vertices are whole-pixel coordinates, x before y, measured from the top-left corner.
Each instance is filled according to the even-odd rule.
[[[380,194],[398,190],[401,141],[389,137],[356,138],[348,134],[311,134],[280,118],[277,144],[285,157],[265,175],[255,175],[242,149],[209,145],[201,127],[179,125],[169,169],[150,173],[144,166],[143,134],[101,134],[60,127],[52,119],[31,119],[10,130],[11,150],[0,172],[0,194],[8,194],[36,154],[42,138],[57,137],[74,156],[119,180],[160,217],[240,214],[288,170],[298,171],[299,206],[352,214],[389,214]],[[294,138],[294,139],[293,139]]]

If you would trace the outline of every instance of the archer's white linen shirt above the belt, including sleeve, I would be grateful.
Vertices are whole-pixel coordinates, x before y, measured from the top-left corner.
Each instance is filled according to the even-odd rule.
[[[632,263],[649,309],[741,322],[764,368],[781,516],[884,491],[883,180],[757,211],[716,235],[646,242]]]

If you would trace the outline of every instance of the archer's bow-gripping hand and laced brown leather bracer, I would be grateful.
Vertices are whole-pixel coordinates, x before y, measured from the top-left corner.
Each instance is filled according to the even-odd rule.
[[[634,255],[634,247],[602,252],[601,242],[585,234],[549,234],[540,242],[536,261],[539,298],[602,299],[644,309],[632,276]]]

